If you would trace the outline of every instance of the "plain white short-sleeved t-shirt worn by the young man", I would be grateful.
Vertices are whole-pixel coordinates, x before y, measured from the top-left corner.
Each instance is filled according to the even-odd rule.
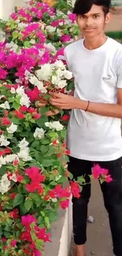
[[[68,69],[75,78],[75,97],[90,102],[117,102],[122,88],[122,45],[108,38],[95,50],[83,39],[65,48]],[[110,106],[109,106],[110,107]],[[68,123],[68,149],[74,158],[112,161],[122,156],[121,120],[72,109]]]

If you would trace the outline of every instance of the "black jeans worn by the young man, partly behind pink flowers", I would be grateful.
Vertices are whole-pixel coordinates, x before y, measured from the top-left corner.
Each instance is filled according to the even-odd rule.
[[[113,181],[101,184],[105,208],[109,213],[109,224],[113,237],[113,252],[122,256],[122,158],[115,161],[91,162],[77,158],[69,158],[68,170],[74,179],[85,175],[86,182],[90,181],[91,168],[94,164],[109,169]],[[72,198],[73,203],[73,233],[77,245],[87,241],[87,205],[91,197],[91,184],[83,186],[80,198]]]

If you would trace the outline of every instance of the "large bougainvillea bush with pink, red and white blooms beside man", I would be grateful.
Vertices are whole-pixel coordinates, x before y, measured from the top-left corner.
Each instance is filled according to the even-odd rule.
[[[67,170],[69,114],[57,109],[54,115],[49,101],[50,91],[73,88],[63,51],[78,30],[72,13],[44,2],[17,8],[1,28],[0,253],[40,256],[57,210],[68,207],[71,195],[79,198],[85,184],[84,177],[72,180]],[[112,180],[98,165],[92,176]]]

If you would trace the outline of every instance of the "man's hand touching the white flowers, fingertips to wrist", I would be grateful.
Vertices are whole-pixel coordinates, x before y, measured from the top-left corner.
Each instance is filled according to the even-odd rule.
[[[61,93],[50,93],[50,103],[58,109],[78,109],[81,100],[71,95]]]

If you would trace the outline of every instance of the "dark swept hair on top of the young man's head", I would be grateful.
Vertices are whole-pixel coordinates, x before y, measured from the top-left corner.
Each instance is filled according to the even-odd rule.
[[[111,0],[76,0],[73,13],[76,15],[83,15],[88,13],[93,5],[102,6],[106,15],[109,13]]]

